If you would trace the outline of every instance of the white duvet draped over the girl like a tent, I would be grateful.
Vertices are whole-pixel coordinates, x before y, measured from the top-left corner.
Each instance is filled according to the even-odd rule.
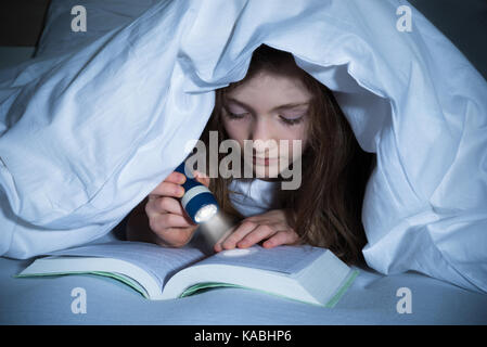
[[[0,252],[105,234],[189,152],[260,43],[334,90],[377,153],[368,264],[487,291],[487,83],[406,1],[171,1],[0,85]],[[410,7],[412,8],[412,7]],[[8,78],[14,76],[13,78]]]

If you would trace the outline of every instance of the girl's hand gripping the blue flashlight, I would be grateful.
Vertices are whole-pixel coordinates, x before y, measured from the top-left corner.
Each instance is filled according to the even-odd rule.
[[[209,185],[209,178],[197,171],[193,174],[200,183]],[[149,194],[145,213],[149,227],[156,236],[154,241],[158,245],[182,247],[198,227],[187,215],[178,200],[184,195],[184,189],[181,187],[184,181],[184,175],[174,171]]]

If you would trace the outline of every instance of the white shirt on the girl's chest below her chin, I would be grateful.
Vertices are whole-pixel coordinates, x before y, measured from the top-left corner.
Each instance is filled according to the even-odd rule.
[[[261,215],[271,209],[280,207],[275,198],[275,191],[281,183],[275,181],[265,181],[261,179],[240,180],[230,182],[229,189],[236,192],[230,193],[229,198],[233,207],[244,217]]]

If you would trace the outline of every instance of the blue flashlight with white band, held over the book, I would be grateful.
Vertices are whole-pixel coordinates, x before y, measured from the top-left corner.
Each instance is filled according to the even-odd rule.
[[[215,195],[204,184],[189,177],[187,172],[191,171],[187,170],[184,162],[176,168],[176,171],[187,177],[184,184],[182,184],[184,195],[182,195],[180,202],[188,216],[196,224],[212,219],[218,211],[218,203]]]

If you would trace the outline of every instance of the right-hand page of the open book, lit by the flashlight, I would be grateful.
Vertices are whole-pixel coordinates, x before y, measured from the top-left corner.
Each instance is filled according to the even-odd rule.
[[[293,274],[310,265],[325,248],[311,246],[278,246],[264,248],[255,245],[249,248],[222,250],[206,258],[198,265],[225,264]]]

